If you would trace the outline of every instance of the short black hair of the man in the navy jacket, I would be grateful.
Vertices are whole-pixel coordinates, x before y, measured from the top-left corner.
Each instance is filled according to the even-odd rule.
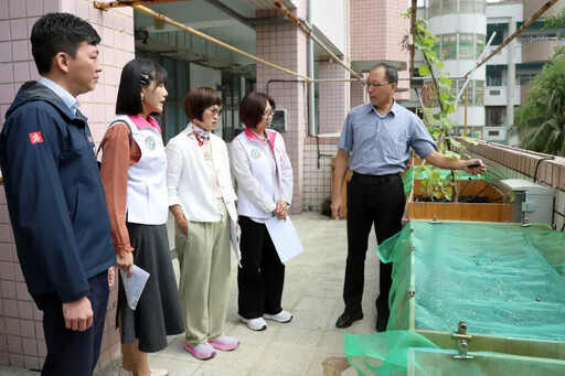
[[[74,58],[83,42],[92,45],[100,43],[96,30],[88,22],[71,13],[43,15],[33,24],[30,40],[31,53],[40,74],[51,71],[51,63],[57,53],[64,52]]]

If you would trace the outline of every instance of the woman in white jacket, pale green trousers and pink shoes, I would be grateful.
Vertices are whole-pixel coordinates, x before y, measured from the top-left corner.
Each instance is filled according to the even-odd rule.
[[[214,135],[222,98],[198,87],[184,98],[191,120],[167,144],[167,187],[174,215],[179,292],[186,332],[184,348],[199,359],[232,351],[239,341],[224,334],[230,292],[230,230],[237,198],[225,142]]]

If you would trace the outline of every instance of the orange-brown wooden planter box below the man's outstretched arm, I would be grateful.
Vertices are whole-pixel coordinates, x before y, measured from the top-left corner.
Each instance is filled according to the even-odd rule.
[[[458,180],[458,192],[465,196],[479,194],[489,198],[489,203],[440,203],[415,202],[414,196],[420,195],[422,181],[414,180],[412,192],[407,200],[408,219],[439,221],[482,221],[482,222],[513,222],[514,205],[502,202],[502,193],[484,180]],[[482,191],[482,192],[481,192]]]

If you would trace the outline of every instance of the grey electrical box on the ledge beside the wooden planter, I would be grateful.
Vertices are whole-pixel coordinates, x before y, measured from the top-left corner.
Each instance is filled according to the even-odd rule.
[[[552,224],[555,189],[525,179],[507,179],[500,183],[514,192],[514,222]]]

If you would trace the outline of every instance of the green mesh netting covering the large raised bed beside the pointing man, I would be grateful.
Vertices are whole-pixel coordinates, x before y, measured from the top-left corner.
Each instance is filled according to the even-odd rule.
[[[377,254],[395,262],[388,329],[451,333],[465,321],[471,334],[565,341],[563,233],[412,221]]]

